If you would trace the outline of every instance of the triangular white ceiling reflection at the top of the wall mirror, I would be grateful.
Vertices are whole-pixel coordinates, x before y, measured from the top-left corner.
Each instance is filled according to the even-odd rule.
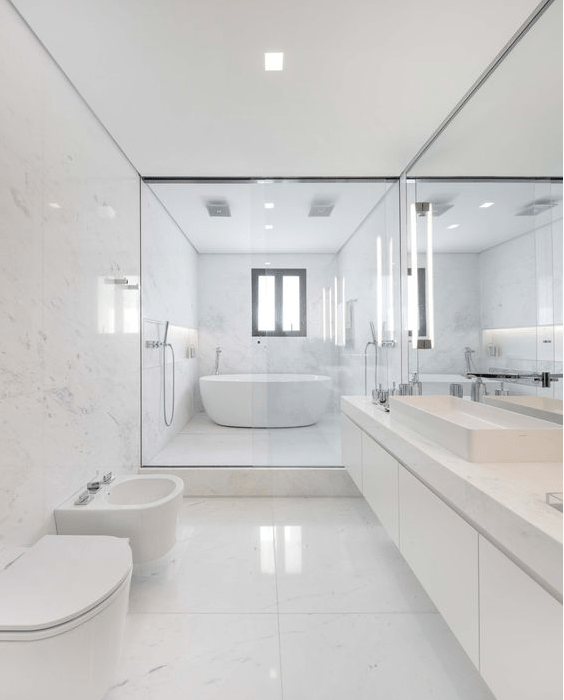
[[[416,176],[562,177],[562,1],[413,167]]]

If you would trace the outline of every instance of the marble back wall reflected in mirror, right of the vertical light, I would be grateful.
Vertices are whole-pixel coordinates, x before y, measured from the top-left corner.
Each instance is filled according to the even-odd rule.
[[[434,255],[435,348],[410,350],[410,370],[422,374],[460,374],[464,348],[480,352],[480,281],[475,253]]]

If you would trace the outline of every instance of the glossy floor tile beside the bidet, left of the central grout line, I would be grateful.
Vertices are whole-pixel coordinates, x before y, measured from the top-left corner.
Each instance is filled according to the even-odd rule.
[[[274,561],[269,499],[185,499],[174,550],[135,569],[130,610],[275,612]]]

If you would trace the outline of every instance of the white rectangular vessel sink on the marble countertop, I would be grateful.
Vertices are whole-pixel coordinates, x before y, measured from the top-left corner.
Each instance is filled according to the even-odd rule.
[[[390,416],[469,462],[560,462],[562,428],[454,396],[395,396]]]

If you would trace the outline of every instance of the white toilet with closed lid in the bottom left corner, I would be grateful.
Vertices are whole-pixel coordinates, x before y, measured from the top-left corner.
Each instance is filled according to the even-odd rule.
[[[127,614],[127,540],[47,535],[0,550],[2,700],[101,700]]]

